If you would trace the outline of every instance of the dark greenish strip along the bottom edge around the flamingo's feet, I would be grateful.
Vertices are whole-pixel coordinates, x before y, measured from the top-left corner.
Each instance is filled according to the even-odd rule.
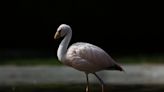
[[[0,92],[85,92],[85,84],[0,86]],[[90,92],[101,92],[99,84],[91,84]],[[164,92],[164,85],[106,85],[105,92]]]

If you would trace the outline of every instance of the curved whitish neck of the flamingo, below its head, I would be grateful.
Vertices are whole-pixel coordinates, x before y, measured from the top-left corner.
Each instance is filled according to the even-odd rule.
[[[57,56],[61,62],[64,62],[65,54],[67,53],[67,48],[72,37],[72,30],[64,37],[62,42],[59,45]]]

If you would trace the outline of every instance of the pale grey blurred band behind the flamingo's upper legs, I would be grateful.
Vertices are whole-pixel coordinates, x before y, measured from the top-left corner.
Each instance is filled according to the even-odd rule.
[[[124,65],[124,72],[100,71],[97,74],[111,84],[164,84],[164,65]],[[98,83],[89,75],[91,83]],[[0,66],[0,85],[86,83],[85,73],[65,66]]]

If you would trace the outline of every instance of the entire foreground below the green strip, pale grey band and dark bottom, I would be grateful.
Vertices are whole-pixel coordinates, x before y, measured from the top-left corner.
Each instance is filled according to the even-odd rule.
[[[102,71],[105,92],[164,92],[164,65],[124,65],[126,73]],[[101,92],[90,75],[90,92]],[[70,84],[71,83],[71,84]],[[60,66],[1,66],[0,92],[85,92],[83,72]]]

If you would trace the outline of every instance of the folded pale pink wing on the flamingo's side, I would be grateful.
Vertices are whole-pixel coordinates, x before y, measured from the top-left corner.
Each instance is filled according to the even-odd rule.
[[[83,42],[74,43],[69,47],[65,63],[78,70],[89,72],[107,69],[116,64],[103,49]]]

